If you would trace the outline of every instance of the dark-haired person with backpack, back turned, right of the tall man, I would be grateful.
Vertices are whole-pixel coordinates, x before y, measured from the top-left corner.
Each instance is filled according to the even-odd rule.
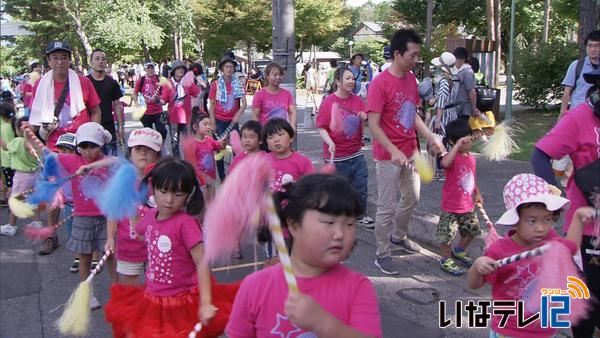
[[[469,52],[464,47],[458,47],[454,50],[456,58],[455,67],[457,70],[456,77],[460,81],[458,94],[456,95],[456,111],[458,117],[468,120],[471,116],[481,114],[477,109],[477,92],[475,91],[475,73],[469,60]]]

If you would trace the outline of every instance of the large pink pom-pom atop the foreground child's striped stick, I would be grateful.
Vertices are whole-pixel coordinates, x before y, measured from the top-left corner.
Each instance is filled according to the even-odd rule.
[[[271,170],[268,158],[255,154],[244,158],[229,173],[204,216],[204,259],[209,263],[230,259],[242,238],[254,237]]]

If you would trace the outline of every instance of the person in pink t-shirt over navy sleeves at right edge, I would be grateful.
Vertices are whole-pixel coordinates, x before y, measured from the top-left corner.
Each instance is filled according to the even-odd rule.
[[[594,189],[598,189],[600,177],[597,169],[592,169],[592,174],[584,178],[585,184],[576,183],[578,171],[585,172],[586,167],[597,165],[600,161],[600,68],[584,73],[583,79],[590,85],[586,100],[572,107],[558,120],[554,128],[536,143],[531,156],[536,175],[555,186],[558,185],[550,164],[551,159],[568,155],[573,161],[575,174],[569,177],[566,187],[571,205],[565,217],[565,232],[579,207],[592,206]],[[594,244],[598,240],[597,231],[594,222],[585,225],[581,242],[581,263],[587,286],[595,298],[600,299],[600,243]],[[592,311],[588,313],[587,319],[573,327],[576,338],[592,337],[594,327],[600,328],[600,304],[595,302],[590,305]]]

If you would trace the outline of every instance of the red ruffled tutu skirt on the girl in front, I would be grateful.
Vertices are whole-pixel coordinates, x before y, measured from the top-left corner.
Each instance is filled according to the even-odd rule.
[[[225,331],[241,282],[218,284],[212,279],[213,305],[218,309],[199,337],[219,337]],[[154,296],[145,286],[114,285],[105,306],[106,321],[115,337],[188,337],[199,321],[198,287],[174,296]]]

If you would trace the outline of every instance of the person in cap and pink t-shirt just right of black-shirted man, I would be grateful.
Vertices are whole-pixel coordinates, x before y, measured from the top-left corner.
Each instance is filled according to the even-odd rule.
[[[162,86],[158,75],[156,75],[156,68],[152,60],[147,60],[144,63],[144,69],[146,75],[140,77],[135,83],[133,88],[133,97],[137,98],[141,93],[146,103],[146,111],[144,116],[140,120],[144,127],[154,128],[162,136],[163,140],[167,137],[167,128],[161,120],[163,107],[160,102],[160,96],[162,94]]]

